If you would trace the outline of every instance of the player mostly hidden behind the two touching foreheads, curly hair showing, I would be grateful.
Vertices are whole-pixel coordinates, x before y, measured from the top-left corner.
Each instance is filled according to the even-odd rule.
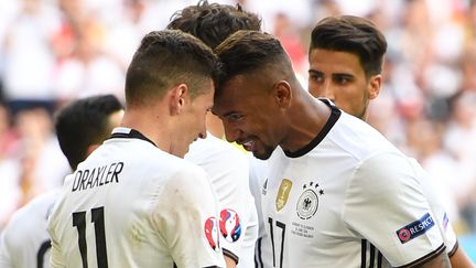
[[[167,29],[195,35],[212,49],[238,30],[260,28],[260,19],[239,4],[207,1],[177,11],[167,25]],[[221,121],[212,114],[207,117],[207,130],[217,137],[224,136]],[[253,267],[258,214],[250,193],[248,159],[237,148],[213,135],[192,143],[185,159],[207,171],[217,193],[223,223],[220,245],[227,267]]]

